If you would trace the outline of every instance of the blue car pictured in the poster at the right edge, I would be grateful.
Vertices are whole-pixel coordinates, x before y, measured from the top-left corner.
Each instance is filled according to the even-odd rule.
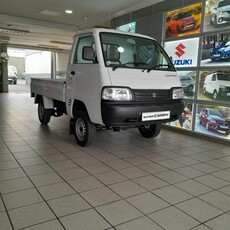
[[[221,42],[210,53],[212,61],[228,61],[230,60],[230,40]]]

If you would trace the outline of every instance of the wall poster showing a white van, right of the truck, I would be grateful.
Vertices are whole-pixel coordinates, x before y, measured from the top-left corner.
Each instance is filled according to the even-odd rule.
[[[230,70],[201,71],[198,91],[199,100],[230,104]]]

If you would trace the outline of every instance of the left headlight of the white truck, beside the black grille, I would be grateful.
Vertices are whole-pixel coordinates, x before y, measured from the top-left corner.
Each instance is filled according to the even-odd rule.
[[[101,98],[107,101],[131,101],[132,93],[128,88],[104,88]]]

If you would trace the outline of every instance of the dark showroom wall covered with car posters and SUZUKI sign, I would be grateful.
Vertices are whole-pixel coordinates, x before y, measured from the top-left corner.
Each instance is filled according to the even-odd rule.
[[[185,96],[184,112],[168,126],[230,142],[230,5],[219,2],[164,1],[112,26],[135,22],[135,32],[156,38],[172,57]]]

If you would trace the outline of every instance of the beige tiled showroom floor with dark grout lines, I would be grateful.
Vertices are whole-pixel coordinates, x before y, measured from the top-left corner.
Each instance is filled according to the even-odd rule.
[[[163,130],[41,126],[28,93],[0,94],[0,229],[230,229],[230,146]]]

